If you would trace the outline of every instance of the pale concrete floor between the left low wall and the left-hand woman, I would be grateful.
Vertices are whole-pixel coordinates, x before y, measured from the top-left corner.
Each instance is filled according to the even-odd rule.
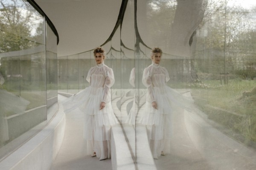
[[[59,100],[65,99],[58,95]],[[84,116],[76,110],[66,114],[66,129],[57,158],[51,170],[111,170],[111,159],[99,161],[97,157],[86,155],[83,139]]]

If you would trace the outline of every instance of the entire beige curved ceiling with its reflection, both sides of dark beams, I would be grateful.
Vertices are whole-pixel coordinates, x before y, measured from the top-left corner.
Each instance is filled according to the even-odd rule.
[[[204,15],[202,6],[205,0],[172,1],[177,2],[175,14],[168,24],[163,24],[165,21],[158,18],[148,20],[147,6],[150,3],[147,0],[35,0],[58,31],[58,57],[79,54],[102,45],[111,37],[120,19],[124,19],[122,28],[119,27],[122,31],[114,37],[119,40],[114,42],[112,39],[111,45],[123,43],[130,49],[140,44],[148,48],[158,46],[164,53],[190,57],[193,36]],[[119,18],[124,12],[124,18]],[[164,14],[171,18],[171,15]],[[157,33],[162,37],[152,37],[152,30],[148,29],[150,23],[157,23],[166,30],[164,34]],[[159,29],[153,31],[159,32]]]

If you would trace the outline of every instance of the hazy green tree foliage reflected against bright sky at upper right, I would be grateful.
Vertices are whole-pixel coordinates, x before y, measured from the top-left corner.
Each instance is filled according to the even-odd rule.
[[[242,75],[240,72],[244,70],[253,79],[256,71],[255,12],[227,3],[228,0],[208,3],[203,23],[197,30],[195,71]]]

